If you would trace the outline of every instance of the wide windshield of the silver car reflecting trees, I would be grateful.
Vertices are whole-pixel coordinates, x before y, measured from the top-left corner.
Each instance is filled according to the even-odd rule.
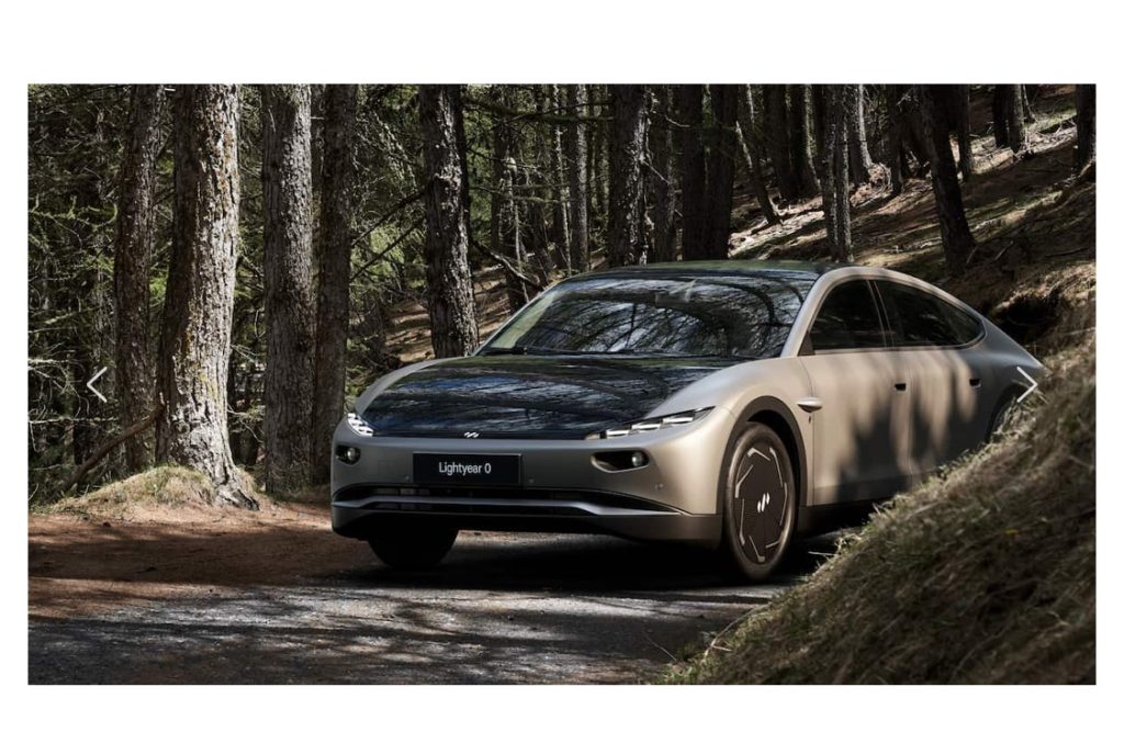
[[[573,280],[535,299],[483,353],[770,358],[813,282],[787,271]]]

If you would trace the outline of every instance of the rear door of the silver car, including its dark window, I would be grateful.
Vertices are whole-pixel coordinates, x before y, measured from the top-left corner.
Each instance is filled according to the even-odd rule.
[[[919,288],[878,281],[892,346],[913,376],[913,463],[926,474],[978,446],[987,435],[998,384],[972,345],[982,324]]]

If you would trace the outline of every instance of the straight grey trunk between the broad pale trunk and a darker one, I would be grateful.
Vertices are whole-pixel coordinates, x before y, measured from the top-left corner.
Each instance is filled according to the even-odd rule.
[[[307,85],[262,88],[268,492],[292,492],[311,476],[312,119]]]

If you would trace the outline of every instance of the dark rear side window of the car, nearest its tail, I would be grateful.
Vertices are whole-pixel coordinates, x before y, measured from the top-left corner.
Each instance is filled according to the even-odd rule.
[[[980,335],[979,320],[935,296],[897,283],[878,283],[895,345],[961,346]]]

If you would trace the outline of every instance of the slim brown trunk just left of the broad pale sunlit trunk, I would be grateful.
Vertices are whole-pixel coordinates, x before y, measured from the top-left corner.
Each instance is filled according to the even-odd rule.
[[[164,88],[133,87],[128,143],[121,162],[117,212],[114,292],[117,312],[117,397],[121,426],[132,427],[152,411],[153,374],[148,358],[148,265],[156,233],[156,156]],[[147,430],[124,444],[125,471],[152,463]]]

